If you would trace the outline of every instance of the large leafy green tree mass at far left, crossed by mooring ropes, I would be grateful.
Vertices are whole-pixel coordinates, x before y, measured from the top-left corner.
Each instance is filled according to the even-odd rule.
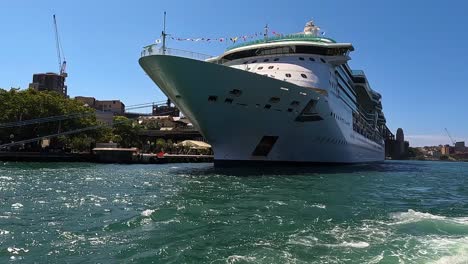
[[[0,123],[25,121],[37,118],[60,116],[76,113],[90,113],[80,118],[63,121],[32,124],[27,126],[0,129],[0,142],[20,141],[58,132],[70,131],[96,125],[94,110],[83,106],[73,99],[65,98],[52,91],[33,89],[9,91],[0,89]],[[95,136],[96,131],[83,132],[80,135]],[[13,139],[10,138],[13,135]],[[76,136],[69,138],[73,139]]]

